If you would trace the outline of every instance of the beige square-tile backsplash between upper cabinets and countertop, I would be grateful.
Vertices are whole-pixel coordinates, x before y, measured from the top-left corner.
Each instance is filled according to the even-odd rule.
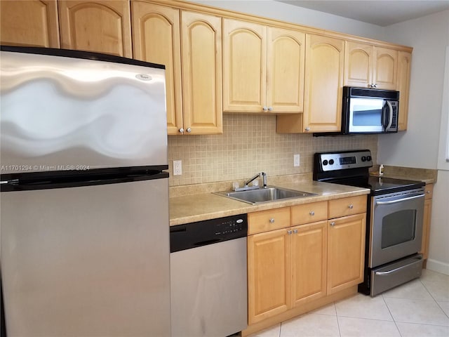
[[[245,180],[264,171],[268,176],[310,173],[315,152],[369,149],[377,162],[377,135],[313,137],[276,133],[276,116],[225,114],[222,135],[168,136],[169,185]],[[300,166],[293,166],[300,154]],[[173,160],[182,175],[173,176]]]

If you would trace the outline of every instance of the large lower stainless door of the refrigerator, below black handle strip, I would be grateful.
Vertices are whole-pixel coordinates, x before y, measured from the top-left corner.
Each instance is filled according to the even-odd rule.
[[[1,193],[8,336],[170,336],[168,179]]]

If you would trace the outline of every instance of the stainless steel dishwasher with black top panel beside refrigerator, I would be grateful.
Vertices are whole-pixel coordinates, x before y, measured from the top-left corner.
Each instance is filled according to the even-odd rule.
[[[170,227],[172,337],[247,326],[246,214]]]

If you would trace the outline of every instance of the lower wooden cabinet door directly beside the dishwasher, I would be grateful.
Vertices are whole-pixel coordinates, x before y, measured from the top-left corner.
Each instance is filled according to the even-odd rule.
[[[248,324],[290,308],[290,237],[286,229],[248,237]]]

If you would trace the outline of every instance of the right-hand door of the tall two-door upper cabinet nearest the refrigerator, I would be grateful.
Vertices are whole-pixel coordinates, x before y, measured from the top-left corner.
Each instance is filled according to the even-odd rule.
[[[182,12],[182,93],[187,133],[222,133],[222,20]]]

